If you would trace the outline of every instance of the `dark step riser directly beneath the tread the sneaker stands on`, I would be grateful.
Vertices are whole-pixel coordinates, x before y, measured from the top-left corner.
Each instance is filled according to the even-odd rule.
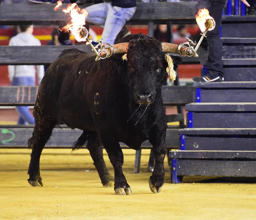
[[[203,89],[201,90],[201,102],[256,102],[256,90],[235,88]]]

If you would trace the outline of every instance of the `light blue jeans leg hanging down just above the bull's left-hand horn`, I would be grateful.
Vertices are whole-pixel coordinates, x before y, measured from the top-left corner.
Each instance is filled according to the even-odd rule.
[[[103,42],[113,45],[116,36],[121,31],[126,21],[131,19],[135,11],[136,7],[120,8],[116,6],[113,7],[111,4],[109,4],[107,19],[102,32]]]

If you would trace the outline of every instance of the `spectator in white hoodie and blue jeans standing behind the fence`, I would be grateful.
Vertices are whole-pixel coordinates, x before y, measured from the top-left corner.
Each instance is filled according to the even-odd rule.
[[[41,42],[32,35],[32,25],[18,26],[18,34],[11,38],[9,46],[41,46]],[[35,85],[35,66],[33,65],[18,65],[8,66],[9,80],[12,86],[34,86]],[[44,77],[44,66],[37,66],[38,84],[40,84]],[[29,112],[27,106],[16,107],[17,112],[20,114],[18,124],[35,124],[35,119]]]

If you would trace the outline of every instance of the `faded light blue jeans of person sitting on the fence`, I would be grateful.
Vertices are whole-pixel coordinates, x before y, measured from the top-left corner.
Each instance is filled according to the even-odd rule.
[[[87,22],[104,27],[102,42],[114,44],[116,36],[130,20],[136,11],[136,7],[120,8],[112,6],[111,3],[99,3],[86,8],[88,11]]]

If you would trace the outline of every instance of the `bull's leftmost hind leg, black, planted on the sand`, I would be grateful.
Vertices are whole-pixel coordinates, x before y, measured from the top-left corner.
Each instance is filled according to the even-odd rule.
[[[52,129],[55,127],[55,125],[56,122],[49,117],[44,115],[35,116],[35,128],[28,143],[29,148],[32,148],[28,170],[28,182],[32,186],[43,186],[39,168],[40,156],[44,149],[44,145],[52,134]]]

